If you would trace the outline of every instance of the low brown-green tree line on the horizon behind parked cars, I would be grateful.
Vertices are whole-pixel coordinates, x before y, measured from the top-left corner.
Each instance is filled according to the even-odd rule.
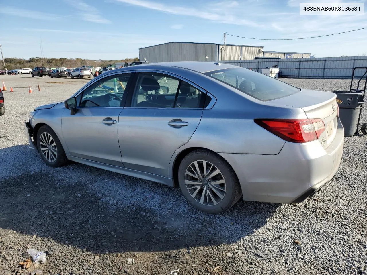
[[[131,63],[134,61],[139,61],[139,58],[125,58],[121,60],[97,60],[92,59],[82,59],[82,58],[46,58],[46,57],[32,57],[29,59],[22,58],[4,58],[5,66],[7,70],[13,69],[23,69],[34,67],[47,67],[47,68],[57,68],[57,67],[67,67],[76,68],[84,65],[91,65],[94,67],[106,67],[108,64],[115,64],[116,62],[127,62]],[[97,61],[97,62],[96,62]],[[3,60],[0,59],[0,68],[3,68]]]

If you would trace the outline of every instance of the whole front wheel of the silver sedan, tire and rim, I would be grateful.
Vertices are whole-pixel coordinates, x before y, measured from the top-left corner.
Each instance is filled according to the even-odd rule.
[[[59,138],[47,125],[37,132],[37,147],[43,161],[49,166],[60,167],[68,161]]]

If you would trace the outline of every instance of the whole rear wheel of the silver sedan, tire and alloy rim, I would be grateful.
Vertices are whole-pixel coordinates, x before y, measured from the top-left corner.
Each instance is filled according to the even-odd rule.
[[[206,150],[193,151],[182,159],[178,183],[185,198],[207,213],[224,212],[241,197],[240,184],[232,167]]]

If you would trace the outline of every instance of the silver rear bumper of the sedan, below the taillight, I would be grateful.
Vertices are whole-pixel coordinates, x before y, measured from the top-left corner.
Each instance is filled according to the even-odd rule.
[[[286,142],[277,155],[223,154],[239,178],[243,199],[275,203],[304,201],[339,168],[344,129],[338,118],[333,142],[324,149],[318,140]]]

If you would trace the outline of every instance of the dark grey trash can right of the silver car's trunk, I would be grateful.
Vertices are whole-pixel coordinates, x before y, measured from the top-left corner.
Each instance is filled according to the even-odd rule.
[[[339,118],[344,127],[345,136],[354,136],[357,127],[361,107],[364,102],[364,92],[360,91],[336,91],[339,105]]]

